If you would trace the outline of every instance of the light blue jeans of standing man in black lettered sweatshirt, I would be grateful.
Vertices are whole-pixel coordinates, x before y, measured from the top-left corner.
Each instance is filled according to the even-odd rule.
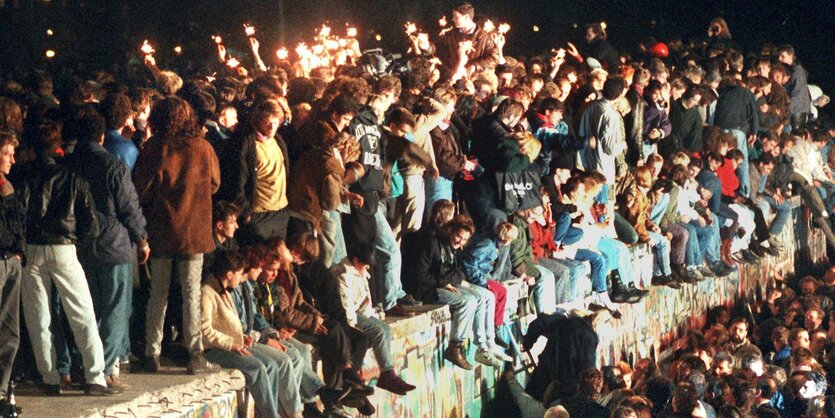
[[[389,310],[397,304],[397,299],[406,296],[406,292],[403,291],[403,285],[400,283],[400,268],[403,264],[400,246],[386,220],[385,210],[385,205],[380,205],[377,213],[374,214],[374,223],[377,228],[377,234],[374,236],[374,249],[377,252],[377,262],[383,270],[383,309]]]

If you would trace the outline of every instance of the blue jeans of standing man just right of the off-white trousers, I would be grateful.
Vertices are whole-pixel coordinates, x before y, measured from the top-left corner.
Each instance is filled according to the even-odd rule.
[[[133,264],[82,264],[90,284],[93,309],[104,346],[104,375],[113,374],[113,365],[124,355],[130,341],[129,327],[133,302]],[[128,345],[130,346],[130,345]]]

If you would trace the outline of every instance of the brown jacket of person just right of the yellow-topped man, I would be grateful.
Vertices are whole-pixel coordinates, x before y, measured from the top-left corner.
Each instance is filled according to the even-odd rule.
[[[293,165],[293,176],[288,184],[287,199],[291,211],[321,231],[322,213],[334,210],[341,203],[342,163],[321,148],[304,153]]]

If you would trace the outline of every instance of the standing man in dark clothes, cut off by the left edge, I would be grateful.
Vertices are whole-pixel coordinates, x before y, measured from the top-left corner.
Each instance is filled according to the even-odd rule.
[[[0,409],[20,343],[20,277],[23,259],[23,206],[6,179],[14,164],[17,137],[0,132]]]

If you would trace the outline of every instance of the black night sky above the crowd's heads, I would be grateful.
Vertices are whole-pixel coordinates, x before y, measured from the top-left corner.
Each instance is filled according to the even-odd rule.
[[[21,0],[24,4],[29,1]],[[62,1],[68,3],[67,8],[61,7]],[[22,10],[0,9],[0,24],[16,29],[0,34],[3,56],[35,51],[40,57],[44,45],[50,45],[60,48],[62,55],[96,54],[108,61],[118,56],[108,52],[134,47],[144,38],[160,45],[158,50],[182,44],[191,52],[211,48],[212,33],[227,33],[230,46],[236,42],[243,46],[241,25],[245,21],[256,25],[265,50],[274,50],[281,35],[292,47],[300,38],[312,36],[314,28],[325,20],[334,27],[350,21],[361,28],[364,48],[378,45],[373,35],[380,33],[383,40],[379,45],[402,49],[404,22],[415,21],[437,34],[437,19],[449,16],[453,2],[85,0],[80,7],[79,0],[52,0],[36,4]],[[475,0],[473,4],[477,14],[512,25],[506,48],[509,55],[545,51],[565,40],[578,41],[583,26],[592,21],[606,21],[610,40],[618,47],[631,48],[650,36],[702,37],[710,19],[723,16],[734,40],[747,51],[763,42],[791,43],[809,69],[811,81],[835,87],[833,0]],[[539,26],[540,32],[534,33],[533,25]],[[58,28],[56,36],[47,38],[46,27]]]

